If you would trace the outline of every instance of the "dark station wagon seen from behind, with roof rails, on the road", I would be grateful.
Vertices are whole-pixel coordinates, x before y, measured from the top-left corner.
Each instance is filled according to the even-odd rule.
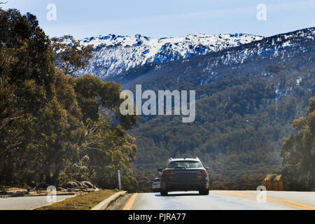
[[[160,193],[170,191],[198,190],[200,195],[209,195],[209,174],[198,158],[169,159],[162,172]]]

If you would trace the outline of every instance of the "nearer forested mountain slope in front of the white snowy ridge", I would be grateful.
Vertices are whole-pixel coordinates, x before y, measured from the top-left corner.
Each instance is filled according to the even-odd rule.
[[[315,94],[314,58],[311,28],[125,73],[120,83],[131,90],[197,90],[195,123],[139,117],[130,132],[134,169],[155,172],[169,157],[198,156],[226,187],[255,189],[281,169],[281,144]]]

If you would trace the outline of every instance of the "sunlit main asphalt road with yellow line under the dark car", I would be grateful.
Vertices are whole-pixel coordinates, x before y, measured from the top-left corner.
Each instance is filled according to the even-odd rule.
[[[289,210],[315,209],[315,192],[265,192],[214,190],[209,195],[197,192],[174,192],[162,197],[160,193],[137,194],[131,210]],[[264,200],[265,198],[265,200]]]

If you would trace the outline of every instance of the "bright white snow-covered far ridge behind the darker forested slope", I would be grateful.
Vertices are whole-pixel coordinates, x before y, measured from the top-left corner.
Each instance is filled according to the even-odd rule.
[[[77,75],[90,73],[106,79],[148,62],[169,62],[195,55],[204,55],[226,48],[251,43],[262,36],[250,34],[190,34],[179,38],[150,38],[141,36],[98,36],[85,38],[83,45],[94,46],[94,57],[87,68]]]

